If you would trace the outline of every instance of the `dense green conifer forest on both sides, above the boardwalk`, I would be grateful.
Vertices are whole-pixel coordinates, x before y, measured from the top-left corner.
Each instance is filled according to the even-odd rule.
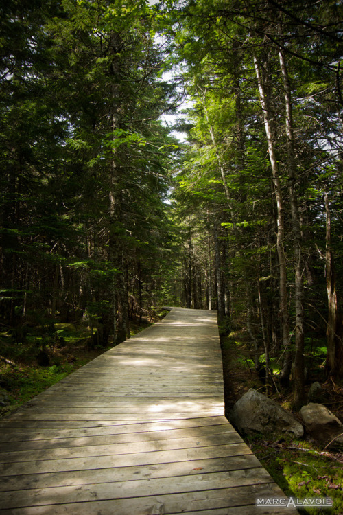
[[[340,384],[342,2],[0,13],[2,365],[183,306],[217,310],[294,409]]]

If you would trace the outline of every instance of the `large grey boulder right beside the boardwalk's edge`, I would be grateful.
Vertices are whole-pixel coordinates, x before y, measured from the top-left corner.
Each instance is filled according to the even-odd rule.
[[[290,433],[299,438],[304,433],[303,426],[290,413],[252,388],[236,402],[230,413],[230,422],[246,435]]]

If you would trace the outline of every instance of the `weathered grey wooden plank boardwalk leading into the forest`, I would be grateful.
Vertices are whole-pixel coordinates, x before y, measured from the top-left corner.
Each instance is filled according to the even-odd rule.
[[[1,421],[0,515],[290,514],[224,417],[216,314],[176,308]]]

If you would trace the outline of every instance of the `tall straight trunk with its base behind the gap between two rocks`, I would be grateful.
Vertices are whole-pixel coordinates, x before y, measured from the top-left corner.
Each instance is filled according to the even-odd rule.
[[[304,285],[303,285],[303,259],[301,253],[302,234],[300,227],[300,214],[298,208],[298,194],[296,191],[297,173],[296,157],[294,149],[294,130],[292,113],[292,92],[289,84],[287,65],[283,52],[279,52],[283,87],[285,91],[285,118],[287,134],[287,168],[288,168],[288,192],[292,215],[292,232],[294,240],[294,304],[296,311],[296,352],[294,356],[294,398],[293,405],[300,409],[305,402],[305,358],[304,358]]]

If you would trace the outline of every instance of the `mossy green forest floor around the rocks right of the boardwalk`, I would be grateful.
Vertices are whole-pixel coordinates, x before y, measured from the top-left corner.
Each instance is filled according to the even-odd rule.
[[[239,344],[237,339],[237,334],[221,337],[228,418],[235,402],[248,389],[254,388],[263,393],[264,388],[252,367],[246,345]],[[331,380],[324,381],[323,378],[321,381],[320,377],[315,380],[319,380],[327,390],[327,398],[330,399],[327,407],[343,422],[343,388]],[[282,407],[290,410],[291,393],[285,396],[275,395],[273,398]],[[293,415],[300,421],[296,413]],[[343,449],[324,449],[324,445],[306,436],[301,440],[281,437],[277,441],[265,435],[242,437],[287,496],[297,499],[318,496],[333,499],[333,509],[310,507],[300,510],[300,513],[343,514]]]

